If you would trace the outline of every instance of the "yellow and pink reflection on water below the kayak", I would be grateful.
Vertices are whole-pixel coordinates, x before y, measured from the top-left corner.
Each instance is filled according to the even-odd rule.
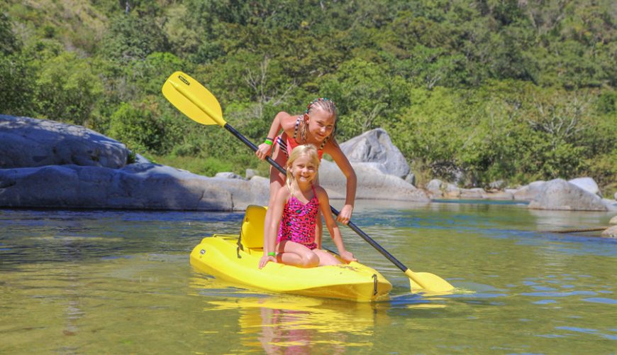
[[[240,297],[208,302],[208,312],[238,310],[240,342],[267,354],[343,354],[372,346],[375,305],[306,297]],[[257,340],[258,342],[256,342]]]

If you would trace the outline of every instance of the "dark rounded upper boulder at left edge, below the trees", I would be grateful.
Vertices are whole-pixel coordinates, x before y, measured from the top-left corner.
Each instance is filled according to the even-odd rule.
[[[124,144],[82,126],[0,115],[0,168],[84,165],[122,168]]]

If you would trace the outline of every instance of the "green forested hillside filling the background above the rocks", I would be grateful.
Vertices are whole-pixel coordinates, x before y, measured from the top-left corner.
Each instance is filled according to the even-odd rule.
[[[160,163],[259,168],[162,96],[182,70],[260,142],[338,104],[338,141],[386,129],[420,182],[591,176],[617,190],[613,0],[0,0],[0,113],[88,126]]]

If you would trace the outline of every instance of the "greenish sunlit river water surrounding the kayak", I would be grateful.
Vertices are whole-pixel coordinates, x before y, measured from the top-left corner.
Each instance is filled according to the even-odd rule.
[[[359,202],[354,221],[413,271],[474,293],[410,295],[408,279],[343,227],[394,288],[356,304],[244,290],[189,252],[241,213],[0,210],[0,354],[614,354],[611,214],[516,204]]]

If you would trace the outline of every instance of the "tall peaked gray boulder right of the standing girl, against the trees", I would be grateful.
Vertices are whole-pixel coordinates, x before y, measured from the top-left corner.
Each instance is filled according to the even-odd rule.
[[[384,129],[373,129],[340,144],[351,163],[378,163],[379,170],[401,179],[410,173],[407,160],[396,148]]]

